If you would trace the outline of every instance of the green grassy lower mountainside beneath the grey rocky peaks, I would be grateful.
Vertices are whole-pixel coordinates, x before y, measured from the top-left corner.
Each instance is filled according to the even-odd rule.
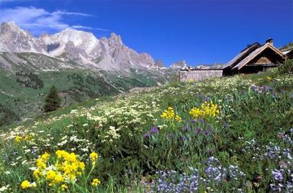
[[[19,66],[15,69],[5,71],[0,68],[0,106],[10,109],[0,114],[0,126],[43,115],[44,98],[51,85],[59,89],[62,106],[68,106],[90,98],[117,95],[133,87],[163,84],[168,81],[168,74],[172,74],[136,69],[127,75],[90,69],[32,71]]]

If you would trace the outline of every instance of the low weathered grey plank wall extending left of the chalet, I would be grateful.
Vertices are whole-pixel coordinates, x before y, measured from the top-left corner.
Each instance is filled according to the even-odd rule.
[[[221,76],[223,76],[223,70],[220,69],[180,71],[181,82],[188,82],[189,80],[199,81],[206,78]]]

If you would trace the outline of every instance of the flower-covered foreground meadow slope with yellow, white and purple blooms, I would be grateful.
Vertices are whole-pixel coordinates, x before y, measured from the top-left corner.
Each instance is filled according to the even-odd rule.
[[[0,188],[292,192],[292,93],[292,75],[272,69],[90,100],[6,126]]]

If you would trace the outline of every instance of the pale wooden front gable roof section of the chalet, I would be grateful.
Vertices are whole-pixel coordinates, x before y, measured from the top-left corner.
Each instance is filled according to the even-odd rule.
[[[272,49],[274,52],[276,52],[276,54],[279,54],[282,58],[283,53],[279,50],[276,49],[276,47],[274,47],[271,43],[265,43],[264,45],[262,45],[261,47],[255,49],[252,53],[250,53],[248,56],[246,56],[243,60],[241,60],[241,62],[239,62],[237,65],[235,65],[234,67],[232,67],[232,69],[241,69],[242,67],[244,67],[247,63],[249,63],[253,58],[255,58],[257,55],[261,54],[261,52],[263,52],[263,50],[265,49]]]

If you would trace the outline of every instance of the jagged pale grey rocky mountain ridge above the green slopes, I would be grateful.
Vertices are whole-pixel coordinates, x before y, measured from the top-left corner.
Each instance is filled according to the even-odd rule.
[[[66,29],[53,35],[42,34],[37,38],[13,22],[1,24],[0,52],[45,54],[103,70],[156,67],[150,54],[138,54],[125,46],[121,36],[114,33],[110,38],[98,39],[90,32]]]

